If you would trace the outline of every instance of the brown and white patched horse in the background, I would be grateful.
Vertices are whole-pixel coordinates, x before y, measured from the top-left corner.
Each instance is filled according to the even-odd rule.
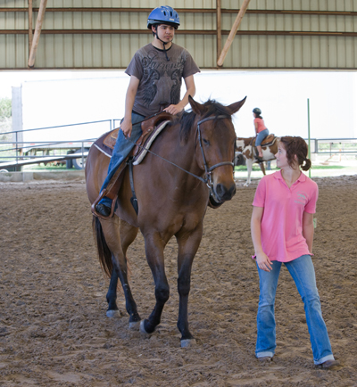
[[[255,147],[255,137],[237,137],[236,155],[243,155],[245,158],[246,168],[248,169],[248,177],[244,186],[251,184],[251,173],[254,163],[259,163],[262,173],[265,175],[265,167],[262,161],[275,160],[275,154],[278,152],[278,139],[279,137],[276,137],[273,134],[264,138],[262,141],[262,159],[258,160]]]

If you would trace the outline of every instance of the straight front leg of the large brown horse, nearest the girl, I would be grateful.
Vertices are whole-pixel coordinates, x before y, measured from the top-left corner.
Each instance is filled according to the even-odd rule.
[[[177,235],[179,243],[178,257],[178,291],[179,291],[179,319],[178,328],[181,333],[181,347],[195,344],[195,338],[188,329],[188,294],[191,288],[191,268],[195,253],[201,243],[203,224],[196,227],[195,232]]]

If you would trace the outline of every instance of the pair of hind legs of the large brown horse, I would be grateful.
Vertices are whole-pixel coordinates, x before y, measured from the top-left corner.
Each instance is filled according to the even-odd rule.
[[[108,310],[106,312],[108,317],[118,316],[117,299],[117,284],[118,278],[122,285],[126,309],[129,313],[129,326],[135,328],[140,321],[140,316],[137,313],[137,304],[132,296],[129,281],[128,281],[128,266],[126,259],[126,251],[130,243],[134,241],[137,236],[137,227],[129,226],[126,222],[120,222],[119,218],[114,216],[112,219],[102,221],[105,242],[112,252],[112,270],[111,282],[106,295],[108,301]]]

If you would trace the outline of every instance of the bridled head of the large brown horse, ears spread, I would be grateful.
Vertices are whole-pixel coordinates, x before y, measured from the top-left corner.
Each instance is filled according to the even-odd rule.
[[[236,132],[231,116],[245,103],[246,97],[237,103],[223,106],[215,101],[197,103],[189,96],[194,111],[196,130],[195,159],[203,169],[216,202],[226,202],[236,193],[233,175]]]

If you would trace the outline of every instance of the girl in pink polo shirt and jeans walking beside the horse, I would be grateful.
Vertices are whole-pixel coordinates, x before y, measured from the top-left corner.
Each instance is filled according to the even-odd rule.
[[[281,137],[275,155],[280,170],[263,177],[254,196],[251,232],[260,279],[255,356],[271,360],[277,347],[274,304],[284,263],[303,299],[313,361],[316,366],[331,368],[338,362],[322,318],[311,260],[319,191],[301,171],[311,168],[307,154],[302,137]]]

